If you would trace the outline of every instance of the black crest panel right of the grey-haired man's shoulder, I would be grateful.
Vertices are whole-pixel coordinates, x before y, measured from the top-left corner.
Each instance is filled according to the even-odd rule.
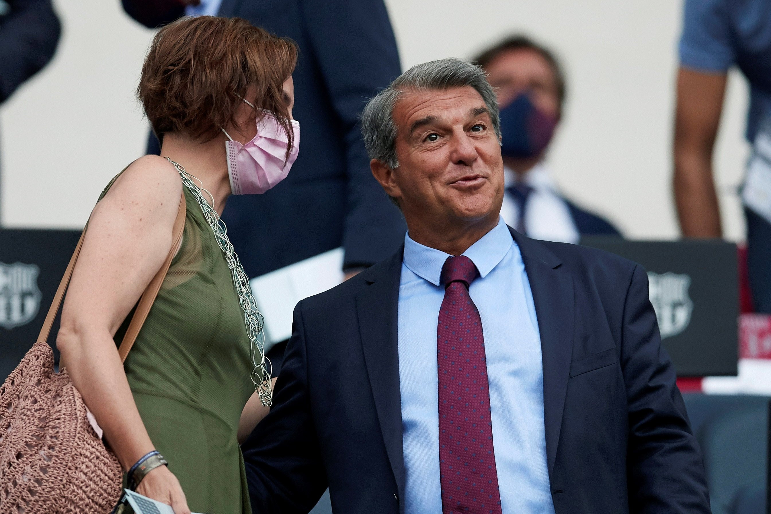
[[[739,271],[736,244],[722,240],[625,241],[583,237],[648,271],[662,344],[678,376],[736,375]]]

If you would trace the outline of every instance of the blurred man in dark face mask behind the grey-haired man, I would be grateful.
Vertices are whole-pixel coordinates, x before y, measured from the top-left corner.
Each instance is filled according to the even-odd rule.
[[[565,198],[544,163],[565,102],[564,72],[554,54],[516,35],[475,60],[496,88],[500,105],[503,220],[535,239],[577,243],[584,235],[619,236],[607,220]]]

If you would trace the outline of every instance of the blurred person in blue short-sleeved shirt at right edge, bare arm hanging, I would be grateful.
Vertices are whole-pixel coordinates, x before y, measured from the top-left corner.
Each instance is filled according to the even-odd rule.
[[[771,2],[686,0],[679,57],[674,187],[685,237],[722,237],[712,153],[728,70],[749,82],[747,264],[755,310],[771,313]]]

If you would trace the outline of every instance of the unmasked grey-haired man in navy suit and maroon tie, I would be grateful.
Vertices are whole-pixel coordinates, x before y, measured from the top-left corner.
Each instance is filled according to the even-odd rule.
[[[409,227],[295,308],[271,412],[242,445],[253,512],[707,514],[645,271],[500,218],[495,93],[415,66],[362,115]]]

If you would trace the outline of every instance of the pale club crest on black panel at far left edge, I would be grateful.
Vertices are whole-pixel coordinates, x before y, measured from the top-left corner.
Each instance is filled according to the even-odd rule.
[[[38,314],[40,290],[35,264],[0,262],[0,327],[27,324]]]

